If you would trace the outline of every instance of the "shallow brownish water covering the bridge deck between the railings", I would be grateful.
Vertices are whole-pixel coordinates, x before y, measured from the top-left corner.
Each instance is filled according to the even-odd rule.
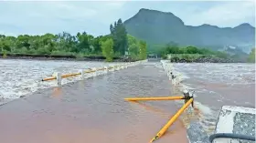
[[[179,107],[173,101],[133,103],[123,98],[170,94],[171,84],[160,63],[133,66],[48,88],[0,107],[0,140],[3,143],[146,143]],[[181,119],[157,142],[187,143]]]

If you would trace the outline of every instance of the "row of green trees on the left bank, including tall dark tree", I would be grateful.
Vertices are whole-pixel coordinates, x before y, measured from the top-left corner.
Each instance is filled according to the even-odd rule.
[[[43,36],[4,36],[0,35],[0,53],[32,54],[42,56],[105,56],[107,61],[113,57],[130,56],[133,59],[146,58],[146,43],[127,35],[123,22],[119,19],[110,26],[108,36],[91,36],[86,32],[72,36],[67,32],[59,35]]]

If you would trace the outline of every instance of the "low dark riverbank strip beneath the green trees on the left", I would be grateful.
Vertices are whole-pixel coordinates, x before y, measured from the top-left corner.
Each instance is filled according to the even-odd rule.
[[[50,56],[50,55],[34,55],[34,54],[6,54],[0,56],[5,59],[36,59],[36,60],[69,60],[69,61],[105,61],[104,56]],[[113,57],[113,62],[134,62],[136,60],[130,57]]]

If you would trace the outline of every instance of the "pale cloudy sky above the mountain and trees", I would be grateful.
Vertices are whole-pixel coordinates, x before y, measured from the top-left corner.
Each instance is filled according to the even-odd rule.
[[[109,33],[113,21],[123,21],[140,8],[171,12],[185,25],[255,25],[252,1],[0,1],[0,34],[71,34],[86,31],[93,36]]]

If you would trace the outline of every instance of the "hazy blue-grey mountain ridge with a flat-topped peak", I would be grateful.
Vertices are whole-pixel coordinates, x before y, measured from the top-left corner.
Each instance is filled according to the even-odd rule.
[[[179,17],[172,13],[142,8],[123,24],[128,34],[143,39],[150,45],[174,42],[180,46],[214,49],[236,46],[246,53],[255,47],[255,27],[246,23],[233,28],[207,24],[186,26]]]

